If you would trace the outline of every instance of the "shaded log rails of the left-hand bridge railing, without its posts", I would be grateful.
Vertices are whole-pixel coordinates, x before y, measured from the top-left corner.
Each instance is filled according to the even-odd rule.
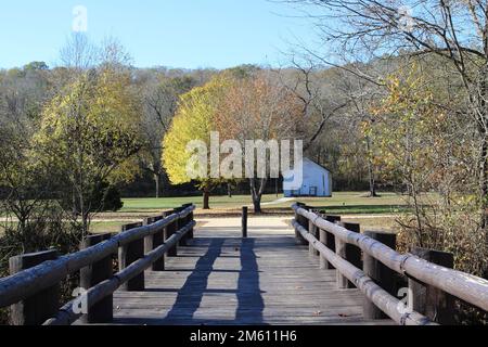
[[[0,308],[16,304],[43,290],[56,285],[67,275],[117,253],[119,247],[162,232],[164,228],[178,220],[184,220],[187,222],[185,226],[172,234],[172,236],[163,245],[153,249],[138,261],[129,265],[127,268],[116,273],[111,280],[104,281],[90,288],[89,304],[91,306],[97,304],[106,295],[115,292],[121,284],[146,270],[154,261],[164,256],[169,248],[177,245],[178,241],[195,227],[195,222],[193,220],[188,221],[187,218],[192,216],[194,210],[194,205],[188,206],[184,209],[181,209],[181,211],[175,213],[155,223],[121,232],[94,246],[59,257],[55,260],[43,261],[36,267],[0,279]],[[69,305],[73,305],[73,301],[64,306],[61,310],[65,311]],[[53,321],[53,323],[61,321],[62,319],[60,317],[63,314],[60,314],[57,320],[51,321]]]

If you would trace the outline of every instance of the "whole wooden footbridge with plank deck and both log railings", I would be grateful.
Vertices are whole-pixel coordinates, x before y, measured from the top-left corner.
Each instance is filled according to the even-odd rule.
[[[251,219],[243,239],[240,220],[196,223],[187,205],[75,254],[14,257],[0,307],[15,325],[449,324],[454,297],[488,309],[488,281],[449,269],[449,255],[400,255],[394,235],[294,209]],[[60,283],[76,273],[85,290],[60,308]]]

